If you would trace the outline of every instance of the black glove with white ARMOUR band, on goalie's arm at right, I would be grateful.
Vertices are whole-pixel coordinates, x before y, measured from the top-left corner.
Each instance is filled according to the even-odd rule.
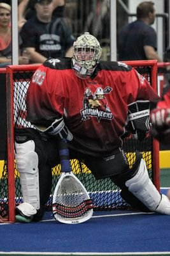
[[[138,140],[144,140],[146,132],[150,130],[150,101],[137,100],[128,105],[127,130],[136,134]]]

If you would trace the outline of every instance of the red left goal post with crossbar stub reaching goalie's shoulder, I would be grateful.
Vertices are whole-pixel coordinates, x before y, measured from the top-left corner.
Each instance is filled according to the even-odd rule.
[[[17,72],[32,72],[39,65],[13,65],[6,67],[6,109],[7,109],[7,173],[8,173],[8,220],[15,221],[15,156],[14,156],[14,128],[15,128],[15,113],[14,113],[14,88],[15,78],[14,73]],[[24,98],[23,98],[24,99]],[[5,163],[4,163],[5,164]],[[4,170],[3,170],[4,171]]]

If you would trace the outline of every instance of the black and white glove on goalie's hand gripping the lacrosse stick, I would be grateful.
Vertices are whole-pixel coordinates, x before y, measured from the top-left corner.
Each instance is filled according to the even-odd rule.
[[[56,119],[50,126],[41,127],[36,125],[36,129],[40,132],[46,132],[50,135],[57,136],[59,139],[73,140],[73,134],[67,129],[63,117]]]

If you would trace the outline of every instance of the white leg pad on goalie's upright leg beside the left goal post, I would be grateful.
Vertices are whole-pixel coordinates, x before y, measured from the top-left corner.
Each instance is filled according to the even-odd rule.
[[[15,151],[24,202],[39,209],[38,154],[35,152],[35,143],[33,140],[24,143],[15,141]]]

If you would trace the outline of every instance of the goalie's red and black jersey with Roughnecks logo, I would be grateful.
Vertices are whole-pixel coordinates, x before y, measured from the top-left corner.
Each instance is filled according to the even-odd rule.
[[[94,156],[122,147],[128,104],[156,101],[157,93],[134,68],[101,61],[89,79],[80,79],[71,58],[45,61],[27,92],[27,120],[48,127],[60,115],[73,134],[69,146]]]

